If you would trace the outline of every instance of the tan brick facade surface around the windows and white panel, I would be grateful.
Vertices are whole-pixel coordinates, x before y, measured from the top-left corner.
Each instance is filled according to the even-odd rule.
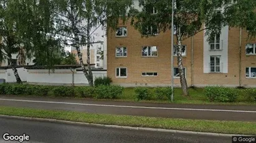
[[[127,22],[120,22],[119,27],[127,27],[127,37],[116,37],[110,32],[107,37],[107,75],[113,79],[114,84],[127,86],[136,85],[170,85],[171,84],[171,32],[167,30],[156,37],[141,37],[141,34]],[[186,56],[183,65],[186,67],[186,79],[189,86],[205,85],[239,85],[239,28],[229,29],[228,43],[228,73],[204,73],[204,32],[199,32],[193,38],[182,42],[186,45]],[[176,43],[174,37],[174,45]],[[247,32],[242,32],[242,86],[256,86],[256,79],[245,77],[246,67],[256,67],[256,55],[245,55],[245,45],[256,43],[256,39],[247,41]],[[191,50],[193,45],[193,51]],[[125,46],[127,56],[116,58],[115,48]],[[158,46],[157,57],[142,57],[142,46]],[[193,55],[191,53],[193,52]],[[193,59],[192,59],[193,57]],[[193,63],[191,62],[193,61]],[[126,67],[127,77],[117,78],[116,67]],[[177,67],[177,58],[174,57],[174,67]],[[193,68],[192,68],[193,67]],[[158,72],[156,77],[143,77],[142,72]],[[174,85],[179,86],[179,78],[174,79]]]

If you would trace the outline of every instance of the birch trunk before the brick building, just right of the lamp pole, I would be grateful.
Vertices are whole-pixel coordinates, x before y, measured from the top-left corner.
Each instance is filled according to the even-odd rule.
[[[189,91],[187,88],[187,80],[183,72],[183,58],[182,58],[182,46],[181,46],[181,35],[179,33],[176,33],[177,37],[177,59],[178,59],[178,69],[179,69],[179,79],[181,82],[181,89],[183,90],[183,95],[184,96],[189,96]]]

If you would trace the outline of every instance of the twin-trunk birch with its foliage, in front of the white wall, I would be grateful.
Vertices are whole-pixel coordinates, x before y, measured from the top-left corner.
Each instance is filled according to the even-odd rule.
[[[52,1],[55,35],[61,37],[65,45],[77,50],[83,74],[88,84],[93,86],[92,67],[90,66],[90,46],[93,33],[98,28],[115,28],[120,17],[125,20],[131,0],[55,0]],[[108,26],[107,26],[108,24]],[[87,46],[87,67],[85,68],[80,48]]]

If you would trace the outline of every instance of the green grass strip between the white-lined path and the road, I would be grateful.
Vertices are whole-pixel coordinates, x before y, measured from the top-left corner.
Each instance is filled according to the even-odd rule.
[[[177,129],[183,131],[216,132],[224,134],[256,134],[256,122],[210,121],[199,119],[152,118],[142,116],[104,115],[75,111],[37,110],[0,106],[0,115],[59,119],[96,124],[115,124],[145,128]]]

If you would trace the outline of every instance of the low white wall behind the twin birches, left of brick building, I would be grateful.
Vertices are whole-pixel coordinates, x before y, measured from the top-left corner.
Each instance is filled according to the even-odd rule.
[[[28,72],[28,84],[72,85],[72,72],[70,69],[55,69],[55,71],[50,72],[50,74],[47,69],[29,69]],[[93,71],[93,79],[100,76],[107,76],[107,71]],[[88,80],[85,78],[82,71],[75,71],[74,84],[88,85]]]

